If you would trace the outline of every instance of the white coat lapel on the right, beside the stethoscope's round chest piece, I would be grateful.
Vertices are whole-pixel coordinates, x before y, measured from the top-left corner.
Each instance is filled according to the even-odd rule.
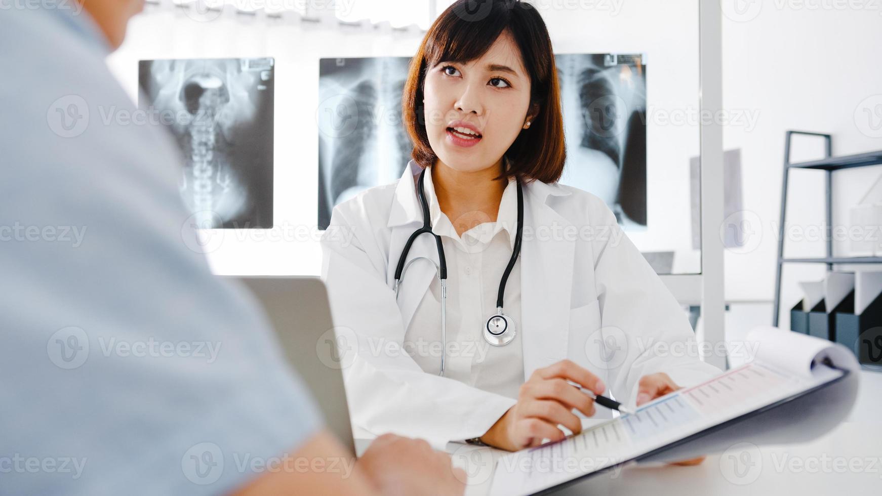
[[[527,381],[535,369],[567,357],[575,240],[564,235],[572,224],[546,203],[549,195],[569,192],[540,181],[525,184],[524,192],[519,332]]]

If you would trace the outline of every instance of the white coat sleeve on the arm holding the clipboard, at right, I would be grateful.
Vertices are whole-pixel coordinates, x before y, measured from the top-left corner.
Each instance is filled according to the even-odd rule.
[[[627,405],[637,402],[639,380],[664,372],[688,387],[720,374],[699,358],[695,333],[683,308],[602,205],[599,224],[609,235],[594,241],[594,283],[603,339],[624,353],[609,361],[607,386]],[[624,359],[623,359],[624,358]]]

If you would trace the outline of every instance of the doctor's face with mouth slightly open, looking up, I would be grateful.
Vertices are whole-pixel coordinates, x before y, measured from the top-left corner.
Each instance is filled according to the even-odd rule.
[[[423,95],[432,151],[448,167],[475,172],[499,164],[523,130],[530,79],[517,44],[503,32],[479,59],[430,67]]]

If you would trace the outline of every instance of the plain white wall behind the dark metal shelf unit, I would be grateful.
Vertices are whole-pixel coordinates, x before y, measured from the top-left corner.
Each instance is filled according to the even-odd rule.
[[[869,109],[878,112],[878,122],[882,121],[882,11],[878,6],[875,10],[824,9],[825,4],[843,4],[826,0],[809,0],[802,8],[796,2],[769,0],[754,3],[739,16],[731,4],[724,0],[729,17],[723,19],[723,104],[729,109],[759,110],[759,120],[752,130],[727,126],[724,145],[742,149],[744,209],[752,212],[754,224],[759,223],[761,229],[759,239],[749,243],[749,251],[727,252],[726,296],[729,300],[772,300],[785,130],[830,133],[837,155],[882,149],[882,132],[873,136],[866,121],[856,120],[856,115],[865,118]],[[876,100],[867,101],[874,95]],[[822,153],[809,140],[794,144],[796,161],[819,158]],[[823,174],[791,174],[789,224],[806,232],[821,225]],[[878,174],[882,174],[879,167],[833,174],[834,226],[847,224],[850,204]],[[797,236],[794,232],[793,241],[787,242],[785,256],[824,255],[823,241],[798,241]],[[835,255],[846,254],[837,250]],[[818,280],[825,270],[823,264],[785,266],[781,327],[789,326],[786,308],[800,298],[797,281]]]

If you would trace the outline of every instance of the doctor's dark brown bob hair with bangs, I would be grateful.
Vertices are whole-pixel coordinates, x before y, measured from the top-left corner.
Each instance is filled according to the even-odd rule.
[[[490,48],[507,32],[520,49],[530,78],[530,107],[539,114],[520,130],[505,156],[511,162],[506,175],[526,181],[554,182],[564,170],[564,120],[560,110],[557,68],[551,40],[542,16],[534,6],[516,0],[458,0],[432,23],[410,61],[401,99],[401,114],[414,144],[412,158],[420,167],[435,163],[426,135],[422,89],[426,71],[439,62],[466,63]]]

